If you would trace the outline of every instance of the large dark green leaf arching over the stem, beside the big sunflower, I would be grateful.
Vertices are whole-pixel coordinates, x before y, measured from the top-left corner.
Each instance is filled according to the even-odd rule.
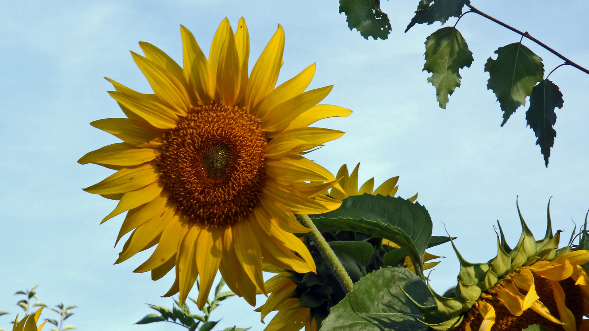
[[[425,207],[380,194],[350,196],[336,210],[309,217],[320,231],[358,231],[391,240],[407,251],[416,266],[421,266],[432,235],[432,220]],[[421,276],[421,267],[416,272]]]

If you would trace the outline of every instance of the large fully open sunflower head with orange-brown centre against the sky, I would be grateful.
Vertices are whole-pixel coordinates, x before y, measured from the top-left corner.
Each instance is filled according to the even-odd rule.
[[[317,105],[332,86],[306,91],[315,64],[276,85],[284,49],[280,25],[248,77],[249,35],[239,20],[219,25],[207,59],[181,26],[183,67],[140,42],[131,52],[154,94],[110,80],[109,92],[126,118],[91,123],[123,140],[78,162],[117,170],[85,191],[119,200],[102,222],[128,211],[117,237],[133,230],[116,263],[157,244],[134,272],[154,280],[176,267],[164,296],[180,302],[200,278],[198,307],[207,301],[220,270],[230,289],[254,305],[267,293],[262,258],[297,272],[315,272],[305,245],[292,233],[309,231],[294,214],[335,210],[341,201],[323,196],[337,179],[302,152],[343,132],[308,127],[351,111]],[[310,182],[313,183],[310,183]]]

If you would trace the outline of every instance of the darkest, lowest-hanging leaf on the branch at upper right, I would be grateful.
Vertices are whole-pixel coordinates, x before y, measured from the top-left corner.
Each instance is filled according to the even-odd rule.
[[[556,124],[554,108],[562,108],[563,102],[558,86],[547,78],[532,88],[530,108],[525,112],[525,120],[538,138],[536,144],[540,145],[546,167],[548,167],[550,148],[554,146],[556,137],[556,131],[552,128],[552,125]]]

